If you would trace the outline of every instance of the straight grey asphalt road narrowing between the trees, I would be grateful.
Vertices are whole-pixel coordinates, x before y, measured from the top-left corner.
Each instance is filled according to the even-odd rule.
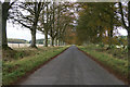
[[[123,85],[96,62],[72,46],[20,85]]]

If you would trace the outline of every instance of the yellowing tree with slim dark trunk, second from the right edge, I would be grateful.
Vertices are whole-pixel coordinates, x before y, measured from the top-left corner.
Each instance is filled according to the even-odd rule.
[[[102,16],[100,17],[103,22],[108,24],[108,29],[107,29],[107,36],[108,36],[108,48],[112,48],[113,45],[113,38],[114,38],[114,29],[116,29],[115,27],[120,26],[120,22],[118,21],[118,16],[117,16],[117,7],[116,7],[116,2],[109,2],[107,4],[104,4],[104,8],[101,7],[101,11],[104,12],[105,18],[103,20]]]

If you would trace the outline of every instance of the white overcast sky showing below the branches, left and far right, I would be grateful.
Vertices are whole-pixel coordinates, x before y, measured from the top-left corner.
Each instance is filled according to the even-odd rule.
[[[127,35],[127,32],[125,29],[119,29],[118,32],[120,33],[120,35],[125,35],[125,36]],[[8,38],[31,40],[30,30],[28,28],[22,28],[21,26],[16,26],[16,25],[14,27],[11,23],[8,23],[6,35]],[[37,33],[36,38],[41,39],[44,38],[44,36],[41,33]]]

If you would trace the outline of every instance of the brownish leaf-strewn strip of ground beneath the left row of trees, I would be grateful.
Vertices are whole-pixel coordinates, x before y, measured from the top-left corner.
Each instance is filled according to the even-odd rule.
[[[54,49],[57,49],[58,47],[54,47]],[[35,48],[13,48],[13,50],[2,50],[2,57],[3,61],[14,61],[20,60],[25,57],[34,57],[35,54],[38,54],[40,52],[47,52],[48,50],[52,49],[52,47],[41,47],[38,49]]]

